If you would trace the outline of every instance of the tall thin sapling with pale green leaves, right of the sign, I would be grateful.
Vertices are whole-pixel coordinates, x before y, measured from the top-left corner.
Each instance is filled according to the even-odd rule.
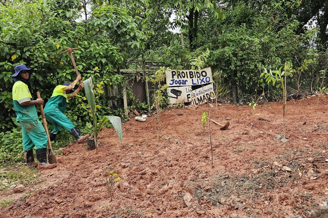
[[[287,90],[286,90],[286,80],[287,77],[293,76],[292,64],[289,62],[285,63],[284,69],[282,70],[282,66],[279,69],[271,70],[268,72],[266,68],[264,68],[264,72],[261,73],[261,77],[265,78],[265,81],[269,84],[272,83],[277,88],[282,89],[282,117],[283,117],[283,142],[286,142],[286,134],[285,134],[285,113],[286,113],[286,105],[287,105]]]

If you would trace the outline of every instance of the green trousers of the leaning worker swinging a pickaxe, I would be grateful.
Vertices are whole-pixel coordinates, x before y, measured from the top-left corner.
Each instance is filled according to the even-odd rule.
[[[68,131],[75,127],[72,121],[60,110],[47,112],[45,116],[53,127],[51,133],[59,133],[62,127]]]

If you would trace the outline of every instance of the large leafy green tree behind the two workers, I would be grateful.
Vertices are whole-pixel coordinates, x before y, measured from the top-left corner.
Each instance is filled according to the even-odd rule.
[[[33,97],[40,91],[49,99],[56,85],[75,78],[69,55],[59,55],[67,47],[80,48],[73,55],[83,77],[102,81],[106,89],[124,82],[117,73],[127,55],[122,51],[141,48],[146,40],[138,30],[140,18],[132,17],[127,9],[105,4],[93,10],[87,22],[76,22],[79,9],[74,1],[67,1],[61,8],[56,1],[0,3],[0,99],[4,103],[0,106],[0,128],[7,129],[15,121],[10,75],[18,64],[34,68],[30,84]],[[107,97],[97,99],[104,105],[98,111],[101,114],[109,109]],[[87,112],[81,113],[86,100],[76,98],[70,104],[74,107],[68,106],[71,110],[67,114],[72,120],[88,121]]]

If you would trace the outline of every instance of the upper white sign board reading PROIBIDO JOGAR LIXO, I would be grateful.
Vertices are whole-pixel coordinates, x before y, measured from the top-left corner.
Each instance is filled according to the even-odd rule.
[[[170,70],[166,72],[166,84],[171,86],[206,85],[212,83],[212,70]]]

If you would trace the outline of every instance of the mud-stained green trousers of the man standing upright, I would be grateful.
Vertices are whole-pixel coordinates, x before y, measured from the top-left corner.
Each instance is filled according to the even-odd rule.
[[[39,120],[19,121],[22,126],[23,150],[27,151],[35,146],[35,149],[48,147],[48,136]]]

